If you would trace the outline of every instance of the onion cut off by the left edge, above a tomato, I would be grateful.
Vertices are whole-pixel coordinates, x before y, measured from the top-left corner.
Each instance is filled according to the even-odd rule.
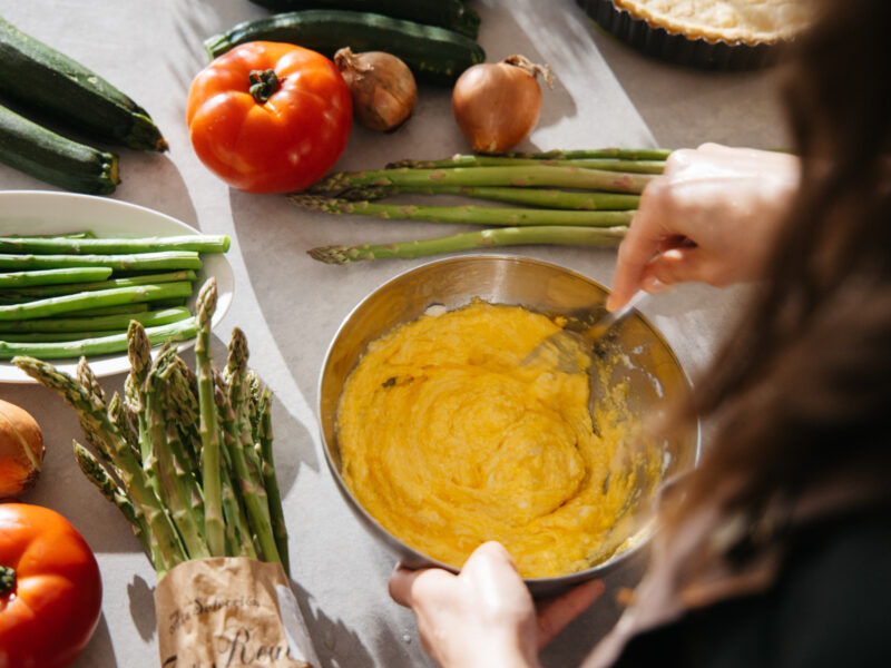
[[[0,499],[31,489],[43,466],[43,435],[30,413],[0,399]]]

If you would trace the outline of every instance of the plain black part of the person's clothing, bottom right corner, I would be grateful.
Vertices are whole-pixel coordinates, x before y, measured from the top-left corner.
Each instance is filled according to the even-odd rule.
[[[767,591],[688,611],[616,668],[891,665],[891,509],[810,527]]]

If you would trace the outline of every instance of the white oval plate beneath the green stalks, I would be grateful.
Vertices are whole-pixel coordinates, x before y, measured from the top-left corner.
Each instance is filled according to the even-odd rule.
[[[42,190],[7,190],[0,193],[0,235],[65,234],[89,229],[102,237],[145,237],[198,234],[185,223],[149,208],[106,199],[91,195]],[[195,293],[209,276],[216,278],[217,304],[212,326],[216,325],[232,305],[234,276],[226,256],[222,253],[202,255],[203,268],[198,272]],[[194,311],[195,296],[187,306]],[[179,347],[194,345],[185,341]],[[77,360],[51,360],[66,373],[74,373]],[[100,355],[89,358],[97,376],[107,376],[129,370],[127,354]],[[8,361],[0,361],[0,382],[32,383],[28,374]]]

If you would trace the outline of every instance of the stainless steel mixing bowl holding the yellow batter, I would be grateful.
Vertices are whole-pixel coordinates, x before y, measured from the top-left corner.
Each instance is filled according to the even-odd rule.
[[[548,315],[566,315],[584,323],[603,310],[607,291],[562,267],[516,256],[467,255],[432,262],[410,269],[365,297],[346,316],[334,336],[319,382],[319,416],[325,459],[350,509],[371,534],[403,563],[412,568],[439,566],[454,571],[388,532],[356,501],[341,477],[335,420],[337,401],[347,375],[368,344],[400,323],[421,316],[432,305],[452,310],[481,298],[492,304],[521,305]],[[686,392],[688,381],[668,344],[639,313],[628,317],[609,345],[620,354],[606,355],[613,382],[627,381],[625,401],[635,420],[664,411],[668,402]],[[635,446],[640,448],[640,443]],[[640,549],[654,531],[650,501],[659,483],[696,464],[698,425],[675,439],[650,439],[647,458],[656,458],[658,480],[639,475],[639,484],[624,515],[620,547],[584,571],[556,578],[527,579],[536,596],[548,596],[590,578],[601,577]],[[617,530],[618,532],[618,530]]]

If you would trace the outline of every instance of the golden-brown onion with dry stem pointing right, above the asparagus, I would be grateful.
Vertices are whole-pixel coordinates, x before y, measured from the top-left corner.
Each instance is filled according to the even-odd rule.
[[[541,114],[538,75],[551,86],[550,67],[510,56],[474,65],[458,77],[452,112],[474,151],[505,153],[535,129]]]

